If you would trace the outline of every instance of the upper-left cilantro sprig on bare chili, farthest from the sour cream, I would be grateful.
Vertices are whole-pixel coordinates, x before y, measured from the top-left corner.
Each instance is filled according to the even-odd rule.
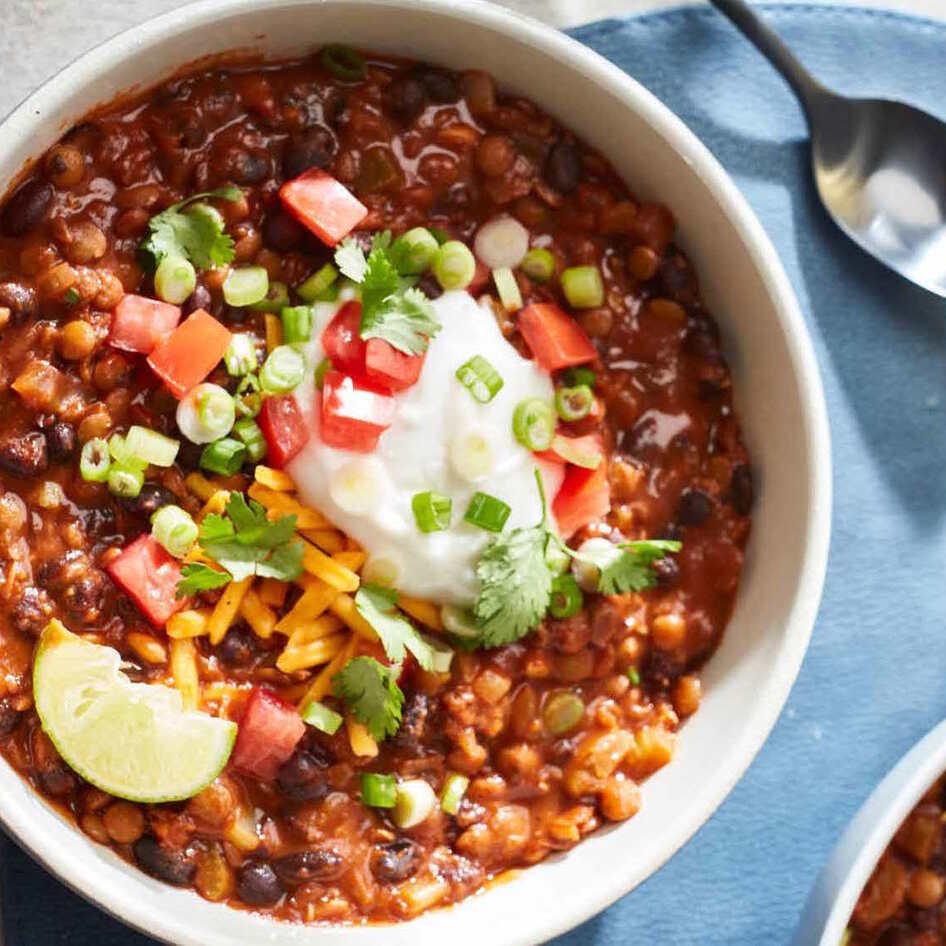
[[[225,266],[233,260],[233,240],[224,232],[222,218],[209,207],[193,205],[207,199],[232,202],[242,196],[239,187],[228,185],[171,204],[148,222],[142,253],[153,266],[165,256],[183,256],[197,269]]]

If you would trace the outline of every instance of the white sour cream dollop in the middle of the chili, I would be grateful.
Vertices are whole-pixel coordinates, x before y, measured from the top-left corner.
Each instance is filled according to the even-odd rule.
[[[503,338],[490,310],[468,293],[445,293],[433,306],[443,327],[430,343],[420,380],[394,395],[394,423],[370,454],[329,447],[318,436],[312,375],[323,358],[322,329],[336,307],[316,307],[306,346],[308,376],[295,393],[315,434],[288,472],[300,498],[356,539],[374,570],[399,591],[465,606],[476,597],[474,569],[493,537],[463,521],[473,493],[510,507],[508,531],[535,525],[542,516],[536,468],[549,502],[561,485],[561,466],[537,460],[512,432],[516,405],[529,397],[550,401],[554,390],[549,376]],[[503,379],[489,404],[476,401],[456,378],[473,355],[486,358]],[[428,490],[453,501],[451,525],[443,532],[423,533],[414,519],[411,500]]]

